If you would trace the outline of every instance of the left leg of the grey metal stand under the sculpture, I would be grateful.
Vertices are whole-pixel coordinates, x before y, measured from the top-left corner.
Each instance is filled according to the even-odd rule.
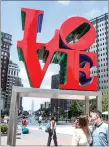
[[[18,116],[18,106],[19,99],[18,94],[12,90],[11,107],[10,107],[10,118],[8,126],[8,138],[7,145],[16,145],[16,133],[17,133],[17,116]]]

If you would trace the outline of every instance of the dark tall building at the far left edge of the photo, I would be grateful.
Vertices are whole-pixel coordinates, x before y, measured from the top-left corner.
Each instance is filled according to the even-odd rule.
[[[1,32],[1,108],[4,111],[8,65],[12,35]]]

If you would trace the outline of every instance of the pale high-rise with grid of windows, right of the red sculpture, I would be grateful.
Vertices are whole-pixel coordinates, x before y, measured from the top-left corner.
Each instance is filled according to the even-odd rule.
[[[108,13],[91,22],[96,29],[96,41],[89,51],[98,54],[98,67],[91,70],[91,75],[98,75],[98,88],[105,91],[108,88]]]

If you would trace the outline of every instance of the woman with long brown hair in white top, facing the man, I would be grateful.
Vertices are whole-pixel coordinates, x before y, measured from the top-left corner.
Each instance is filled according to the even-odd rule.
[[[72,145],[90,145],[92,143],[91,131],[88,128],[88,118],[81,116],[79,118],[79,128],[75,130],[73,135]]]

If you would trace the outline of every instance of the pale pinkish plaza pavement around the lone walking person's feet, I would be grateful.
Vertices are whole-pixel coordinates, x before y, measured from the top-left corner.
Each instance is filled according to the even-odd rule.
[[[58,145],[69,146],[72,142],[71,135],[57,134]],[[20,139],[16,139],[16,145],[18,146],[46,146],[48,140],[48,133],[44,131],[30,130],[29,134],[21,134]],[[7,137],[1,137],[2,146],[7,144]],[[51,145],[54,145],[52,140]]]

